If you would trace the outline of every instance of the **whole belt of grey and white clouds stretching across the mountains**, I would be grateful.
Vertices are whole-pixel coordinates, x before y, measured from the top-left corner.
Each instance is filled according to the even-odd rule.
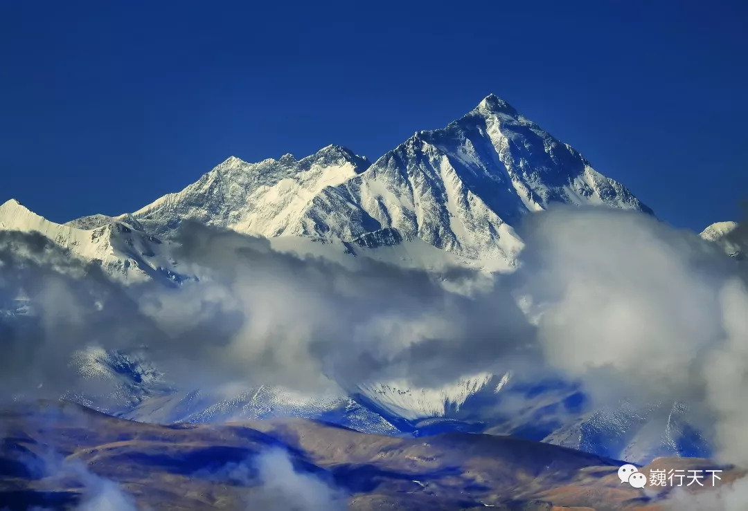
[[[558,208],[528,215],[518,232],[520,268],[468,295],[447,291],[443,275],[342,267],[194,223],[183,225],[177,258],[199,282],[125,289],[40,237],[3,232],[2,300],[28,297],[34,313],[3,320],[1,378],[25,394],[72,385],[61,361],[85,345],[147,346],[193,384],[438,386],[480,372],[560,371],[597,403],[688,403],[720,459],[748,465],[741,263],[631,211]]]

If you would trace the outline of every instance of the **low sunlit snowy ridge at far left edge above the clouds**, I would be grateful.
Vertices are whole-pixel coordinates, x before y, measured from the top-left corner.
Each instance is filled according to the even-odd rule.
[[[99,261],[111,276],[124,282],[177,278],[168,244],[119,220],[79,229],[50,222],[10,199],[0,205],[0,229],[38,232],[85,261]]]

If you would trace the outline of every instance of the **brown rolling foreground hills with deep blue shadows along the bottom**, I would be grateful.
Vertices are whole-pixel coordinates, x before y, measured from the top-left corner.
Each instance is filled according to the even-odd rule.
[[[665,509],[666,489],[622,485],[620,462],[510,436],[404,439],[303,419],[166,427],[64,402],[16,404],[0,415],[0,431],[0,509],[73,509],[105,493],[129,506],[118,511],[237,510],[271,502],[271,490],[269,511]],[[278,470],[268,471],[283,462],[268,465],[267,452],[283,453],[284,481],[298,487],[288,491]],[[653,465],[714,467],[705,459]],[[738,475],[726,471],[723,481]]]

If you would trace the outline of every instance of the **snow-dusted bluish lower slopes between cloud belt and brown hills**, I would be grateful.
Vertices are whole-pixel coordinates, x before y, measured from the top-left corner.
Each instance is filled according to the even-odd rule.
[[[268,385],[185,390],[170,388],[164,375],[138,354],[86,350],[76,357],[90,390],[64,397],[141,422],[222,424],[301,417],[396,436],[447,431],[512,435],[642,463],[657,456],[711,452],[681,403],[646,408],[610,403],[590,409],[576,385],[557,380],[485,375],[432,390],[390,382],[350,396],[301,394]]]

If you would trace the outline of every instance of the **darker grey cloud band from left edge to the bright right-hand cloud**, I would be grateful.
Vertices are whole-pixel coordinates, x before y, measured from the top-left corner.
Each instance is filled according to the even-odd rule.
[[[3,244],[5,235],[15,243]],[[39,246],[16,250],[22,241]],[[147,346],[182,381],[322,389],[407,378],[439,385],[486,368],[502,372],[532,338],[498,286],[476,300],[446,291],[424,271],[373,261],[350,269],[194,223],[185,223],[178,241],[177,257],[200,282],[118,288],[52,244],[0,233],[1,276],[13,279],[7,300],[27,296],[34,309],[8,323],[13,349],[4,378],[27,392],[29,380],[59,388],[70,377],[61,360],[91,345]],[[452,281],[470,278],[468,270],[450,274]]]

